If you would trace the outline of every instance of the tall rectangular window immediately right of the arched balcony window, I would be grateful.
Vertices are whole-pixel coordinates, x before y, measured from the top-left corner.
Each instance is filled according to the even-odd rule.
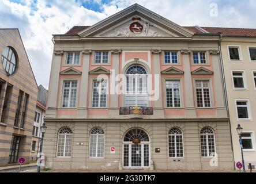
[[[180,81],[165,81],[166,104],[168,108],[180,107]]]

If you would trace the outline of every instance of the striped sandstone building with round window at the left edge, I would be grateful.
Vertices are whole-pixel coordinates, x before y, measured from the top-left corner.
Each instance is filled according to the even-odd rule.
[[[37,84],[18,29],[0,29],[0,166],[29,161]]]

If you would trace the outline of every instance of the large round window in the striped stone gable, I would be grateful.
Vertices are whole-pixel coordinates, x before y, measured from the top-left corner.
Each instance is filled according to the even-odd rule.
[[[12,47],[3,48],[2,52],[2,65],[7,75],[12,75],[17,69],[17,52]]]

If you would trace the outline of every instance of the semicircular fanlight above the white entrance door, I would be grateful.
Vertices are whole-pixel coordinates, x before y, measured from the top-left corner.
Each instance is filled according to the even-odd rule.
[[[148,134],[140,128],[134,128],[134,129],[131,129],[130,131],[128,131],[126,133],[123,141],[132,142],[134,138],[139,138],[141,142],[143,142],[143,141],[148,142],[149,141]]]

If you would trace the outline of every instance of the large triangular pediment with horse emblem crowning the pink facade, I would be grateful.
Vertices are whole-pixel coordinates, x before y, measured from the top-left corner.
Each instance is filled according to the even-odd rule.
[[[134,22],[141,25],[140,31],[131,31],[130,25]],[[82,30],[78,35],[80,37],[191,37],[193,33],[143,6],[134,4]]]

